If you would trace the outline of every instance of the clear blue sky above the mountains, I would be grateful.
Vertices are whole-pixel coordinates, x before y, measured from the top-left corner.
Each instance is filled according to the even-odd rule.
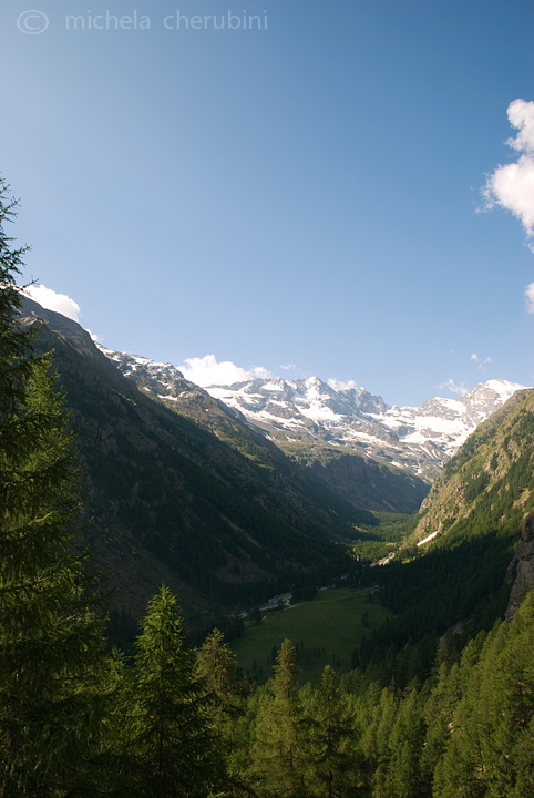
[[[25,277],[205,380],[534,385],[533,40],[530,0],[4,2]]]

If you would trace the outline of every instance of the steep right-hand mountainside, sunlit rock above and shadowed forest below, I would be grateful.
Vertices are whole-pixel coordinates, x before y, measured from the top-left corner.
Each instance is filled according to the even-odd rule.
[[[534,390],[524,390],[445,464],[413,534],[373,573],[396,616],[368,654],[378,637],[387,651],[449,633],[446,645],[461,647],[510,618],[534,583],[533,514]]]

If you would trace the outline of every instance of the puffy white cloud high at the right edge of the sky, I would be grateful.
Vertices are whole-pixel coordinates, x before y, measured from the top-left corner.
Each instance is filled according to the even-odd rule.
[[[496,205],[520,219],[528,238],[534,236],[534,102],[514,100],[507,115],[518,130],[506,144],[521,153],[515,163],[497,166],[482,190],[486,209]],[[528,244],[534,252],[534,244]]]

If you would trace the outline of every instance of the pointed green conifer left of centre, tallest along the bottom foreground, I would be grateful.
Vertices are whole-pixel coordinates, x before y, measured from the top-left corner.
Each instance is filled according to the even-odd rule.
[[[125,795],[204,798],[220,779],[222,765],[206,690],[168,589],[151,601],[135,648]]]

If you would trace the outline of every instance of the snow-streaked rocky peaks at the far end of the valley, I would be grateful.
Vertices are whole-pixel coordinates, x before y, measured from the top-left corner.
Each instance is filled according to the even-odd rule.
[[[421,407],[389,406],[364,388],[335,389],[318,377],[254,379],[203,391],[171,364],[101,350],[123,375],[165,401],[207,392],[281,446],[316,442],[355,450],[428,480],[482,421],[524,388],[493,379],[458,399],[433,397]]]

